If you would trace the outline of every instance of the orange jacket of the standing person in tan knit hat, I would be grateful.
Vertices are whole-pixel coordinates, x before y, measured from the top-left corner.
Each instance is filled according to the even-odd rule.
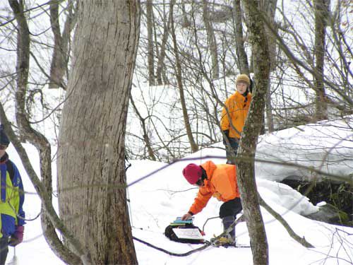
[[[220,124],[222,131],[229,130],[229,137],[237,139],[240,138],[239,133],[243,131],[245,119],[249,112],[250,102],[251,93],[248,93],[248,95],[244,97],[238,91],[236,91],[225,101],[225,107],[223,107],[222,110]],[[231,120],[229,120],[227,110]],[[231,122],[237,131],[232,128]]]

